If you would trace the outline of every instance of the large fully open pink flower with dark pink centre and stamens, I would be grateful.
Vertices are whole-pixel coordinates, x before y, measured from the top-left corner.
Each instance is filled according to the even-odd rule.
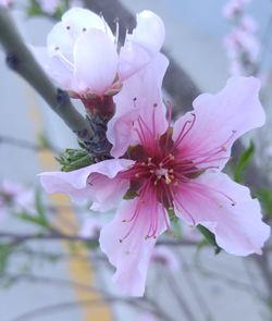
[[[48,193],[88,197],[99,210],[115,207],[129,192],[133,198],[121,202],[99,242],[116,268],[113,281],[133,296],[144,294],[156,240],[170,229],[169,209],[189,225],[209,229],[221,248],[237,256],[261,254],[270,234],[258,200],[221,172],[233,143],[264,122],[259,81],[231,78],[219,94],[200,95],[194,111],[172,126],[158,89],[166,61],[160,54],[154,61],[116,96],[122,121],[115,119],[111,135],[114,156],[123,159],[41,174]]]

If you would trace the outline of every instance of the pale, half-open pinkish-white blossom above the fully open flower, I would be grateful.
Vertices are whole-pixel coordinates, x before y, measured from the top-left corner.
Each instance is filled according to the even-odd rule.
[[[47,48],[33,48],[48,74],[76,98],[112,95],[123,81],[148,64],[164,41],[164,25],[151,11],[137,14],[137,27],[119,50],[107,22],[94,12],[72,8],[54,25]],[[119,53],[120,52],[120,53]]]

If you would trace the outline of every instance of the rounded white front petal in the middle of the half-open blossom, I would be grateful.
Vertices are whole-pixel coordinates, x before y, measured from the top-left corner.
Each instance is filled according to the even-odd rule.
[[[112,40],[101,30],[82,34],[74,47],[75,77],[78,88],[102,95],[114,82],[119,57]]]

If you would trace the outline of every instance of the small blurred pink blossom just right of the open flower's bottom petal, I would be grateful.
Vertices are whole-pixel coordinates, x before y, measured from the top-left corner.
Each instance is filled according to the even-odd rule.
[[[178,270],[178,260],[175,254],[169,249],[166,246],[156,246],[151,255],[151,261],[163,266],[170,272],[175,272]]]

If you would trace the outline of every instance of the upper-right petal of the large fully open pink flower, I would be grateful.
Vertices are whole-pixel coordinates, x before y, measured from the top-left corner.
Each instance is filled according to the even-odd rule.
[[[263,125],[259,89],[257,78],[232,77],[219,94],[203,94],[196,98],[193,103],[195,124],[178,144],[181,157],[199,162],[206,159],[205,165],[222,169],[230,158],[233,143],[249,129]],[[194,119],[193,113],[187,113],[175,123],[174,140],[181,136],[186,121]],[[215,157],[209,163],[207,159],[211,159],[212,153]]]

